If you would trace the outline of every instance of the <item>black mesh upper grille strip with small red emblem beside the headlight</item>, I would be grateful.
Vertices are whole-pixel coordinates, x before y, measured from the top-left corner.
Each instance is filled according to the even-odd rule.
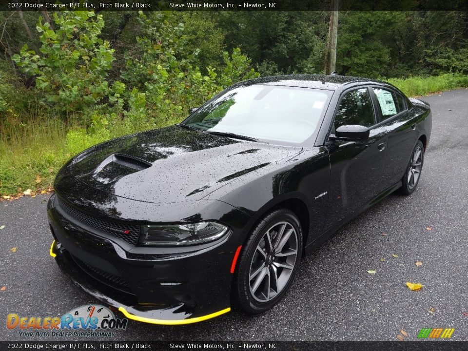
[[[87,225],[88,227],[97,229],[98,231],[107,234],[111,234],[113,236],[117,236],[118,238],[125,240],[132,245],[136,245],[138,242],[138,237],[140,236],[140,226],[137,224],[126,224],[88,215],[71,207],[60,198],[59,206],[70,217],[76,219],[80,223]],[[125,234],[126,231],[128,231],[128,234]]]

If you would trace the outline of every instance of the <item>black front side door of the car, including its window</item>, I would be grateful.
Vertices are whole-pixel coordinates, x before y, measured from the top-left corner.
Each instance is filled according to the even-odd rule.
[[[378,122],[370,88],[359,87],[342,95],[327,142],[331,162],[329,228],[362,208],[379,193],[388,130],[380,128]],[[368,127],[369,139],[332,141],[334,130],[345,124]]]

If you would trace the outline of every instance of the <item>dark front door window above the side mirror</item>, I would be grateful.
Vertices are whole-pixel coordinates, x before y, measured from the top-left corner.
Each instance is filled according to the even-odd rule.
[[[335,117],[335,129],[345,124],[370,127],[374,123],[374,112],[367,88],[346,93],[338,107],[338,113]]]

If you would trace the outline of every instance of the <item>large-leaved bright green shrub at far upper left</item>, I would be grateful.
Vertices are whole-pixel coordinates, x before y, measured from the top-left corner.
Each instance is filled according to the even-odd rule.
[[[121,102],[123,86],[110,85],[107,72],[114,61],[109,42],[99,38],[104,21],[94,12],[55,12],[53,29],[39,18],[39,53],[25,44],[12,59],[35,77],[43,102],[63,112],[85,111],[103,98]]]

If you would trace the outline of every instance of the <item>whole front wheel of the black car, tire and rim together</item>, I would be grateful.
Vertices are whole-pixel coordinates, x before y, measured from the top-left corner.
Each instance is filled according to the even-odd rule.
[[[255,314],[277,304],[291,286],[302,254],[297,216],[280,209],[265,216],[244,245],[234,274],[234,302]]]

